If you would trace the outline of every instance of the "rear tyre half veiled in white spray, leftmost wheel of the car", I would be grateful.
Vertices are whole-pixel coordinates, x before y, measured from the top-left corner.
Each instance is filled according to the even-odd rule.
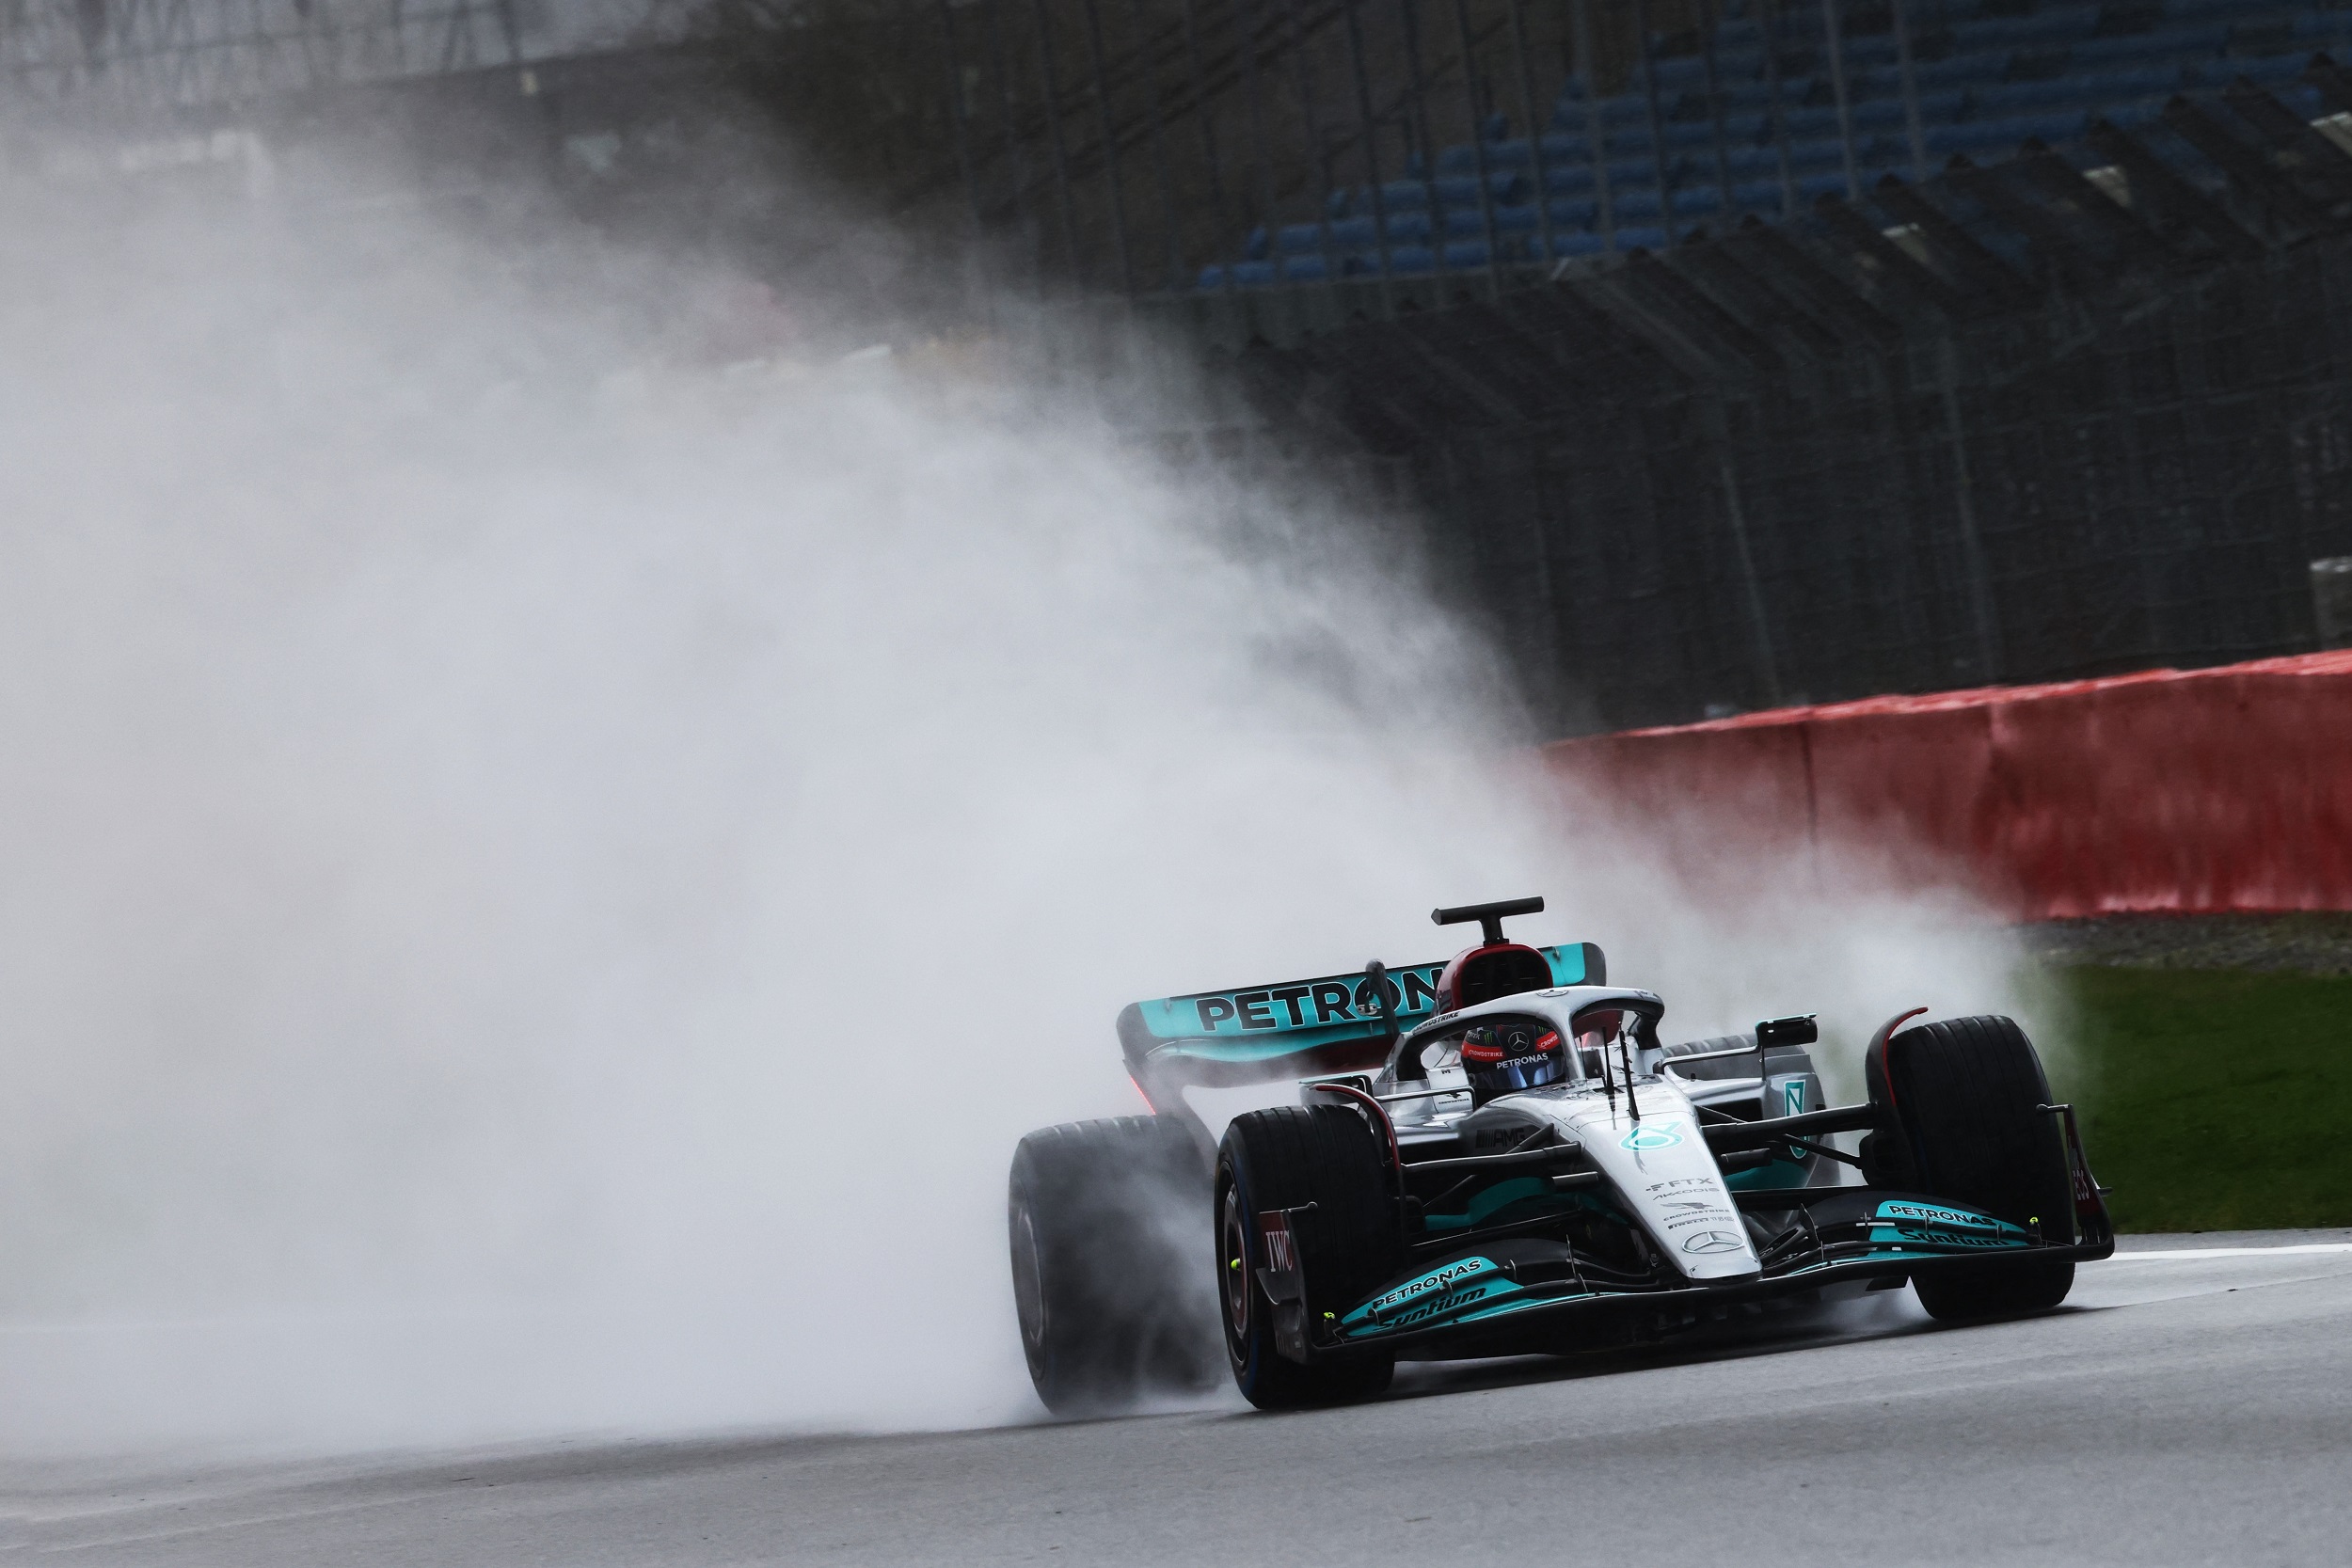
[[[1216,1385],[1216,1300],[1200,1279],[1209,1171],[1181,1124],[1030,1133],[1004,1215],[1021,1349],[1047,1410],[1110,1415]]]

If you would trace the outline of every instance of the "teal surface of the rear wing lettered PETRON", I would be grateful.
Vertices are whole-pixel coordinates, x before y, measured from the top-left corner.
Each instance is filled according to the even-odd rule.
[[[1538,947],[1552,966],[1552,985],[1585,983],[1585,945]],[[1399,1027],[1437,1009],[1437,976],[1444,964],[1411,964],[1388,971],[1385,1004]],[[1371,1039],[1385,1030],[1371,994],[1371,978],[1319,976],[1282,985],[1254,985],[1192,997],[1138,1001],[1136,1011],[1152,1039],[1183,1041],[1176,1056],[1209,1060],[1265,1060],[1291,1051]]]

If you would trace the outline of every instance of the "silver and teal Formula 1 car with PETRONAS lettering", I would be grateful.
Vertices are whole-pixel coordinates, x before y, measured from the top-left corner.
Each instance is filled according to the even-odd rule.
[[[1900,1013],[1863,1056],[1867,1100],[1828,1107],[1811,1018],[1665,1044],[1665,1004],[1609,985],[1599,947],[1503,940],[1541,910],[1437,910],[1482,926],[1444,966],[1120,1016],[1155,1114],[1014,1154],[1047,1408],[1204,1387],[1218,1340],[1242,1394],[1284,1408],[1376,1394],[1399,1359],[1613,1347],[1769,1298],[1910,1284],[1931,1316],[2006,1316],[2114,1251],[2074,1112],[2009,1018]],[[1216,1135],[1204,1107],[1235,1093],[1258,1110]]]

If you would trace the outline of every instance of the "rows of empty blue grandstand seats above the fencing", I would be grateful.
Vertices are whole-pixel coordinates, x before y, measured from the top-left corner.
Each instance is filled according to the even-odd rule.
[[[1404,179],[1341,186],[1310,221],[1251,228],[1195,287],[1552,268],[1795,219],[1823,195],[1863,200],[1886,176],[1922,181],[2027,141],[2105,169],[2098,122],[2164,155],[2180,136],[2166,103],[2239,78],[2326,120],[2303,71],[2347,40],[2352,5],[2328,0],[1736,0],[1712,31],[1644,38],[1623,92],[1571,75],[1541,136],[1491,113]]]

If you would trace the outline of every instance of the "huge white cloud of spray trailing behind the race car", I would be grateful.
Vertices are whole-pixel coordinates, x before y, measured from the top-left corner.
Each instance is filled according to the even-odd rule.
[[[1025,1418],[1004,1161],[1138,1110],[1120,1004],[1437,903],[1686,1034],[2011,1004],[1964,903],[1677,891],[1395,529],[1009,350],[722,374],[743,284],[583,235],[7,244],[12,1446]]]

